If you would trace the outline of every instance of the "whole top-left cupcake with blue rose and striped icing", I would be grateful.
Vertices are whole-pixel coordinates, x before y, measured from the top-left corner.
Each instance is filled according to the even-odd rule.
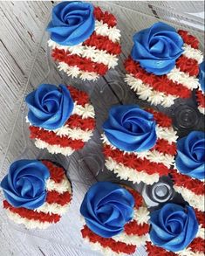
[[[98,80],[118,65],[120,30],[113,14],[92,3],[62,2],[54,6],[48,45],[58,69],[72,78]]]

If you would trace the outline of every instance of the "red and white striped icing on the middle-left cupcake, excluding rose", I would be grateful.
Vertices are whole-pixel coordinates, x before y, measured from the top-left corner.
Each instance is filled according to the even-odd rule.
[[[65,125],[55,130],[47,130],[30,124],[30,137],[35,140],[39,149],[47,149],[51,154],[61,153],[70,156],[76,150],[82,149],[93,135],[95,128],[94,107],[87,93],[67,86],[74,107],[72,115]],[[29,122],[29,121],[28,121]]]

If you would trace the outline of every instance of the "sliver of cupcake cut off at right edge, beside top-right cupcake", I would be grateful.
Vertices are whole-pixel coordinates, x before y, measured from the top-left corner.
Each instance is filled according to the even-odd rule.
[[[198,103],[198,109],[202,114],[205,114],[205,61],[200,65],[199,72],[200,87],[196,91],[196,101]]]

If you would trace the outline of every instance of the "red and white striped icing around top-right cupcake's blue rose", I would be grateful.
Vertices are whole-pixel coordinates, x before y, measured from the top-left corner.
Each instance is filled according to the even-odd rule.
[[[199,41],[188,31],[180,30],[178,33],[184,42],[184,52],[169,73],[160,76],[147,73],[131,57],[125,61],[126,83],[141,100],[147,100],[152,105],[171,107],[174,100],[190,98],[192,90],[200,86],[197,76],[203,56]]]

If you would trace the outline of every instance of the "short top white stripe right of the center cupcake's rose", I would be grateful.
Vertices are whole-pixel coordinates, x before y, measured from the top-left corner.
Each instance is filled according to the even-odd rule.
[[[156,134],[158,138],[167,141],[169,144],[176,142],[178,139],[178,135],[176,135],[177,132],[174,131],[174,128],[172,127],[163,128],[159,125],[156,125]]]

